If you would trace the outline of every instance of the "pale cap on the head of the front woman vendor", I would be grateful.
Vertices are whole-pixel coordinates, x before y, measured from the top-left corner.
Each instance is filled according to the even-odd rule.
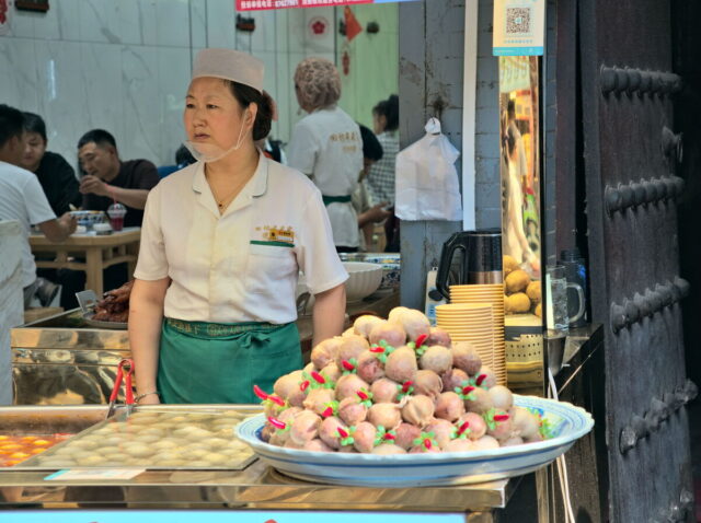
[[[233,49],[203,49],[195,57],[193,80],[202,77],[221,78],[263,92],[264,66],[251,55]]]

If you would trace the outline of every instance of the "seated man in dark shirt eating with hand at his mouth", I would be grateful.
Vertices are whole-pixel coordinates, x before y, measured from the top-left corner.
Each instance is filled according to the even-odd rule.
[[[146,198],[160,181],[156,165],[148,160],[119,160],[114,137],[103,129],[82,136],[78,160],[85,173],[80,181],[83,209],[106,211],[117,200],[127,208],[124,225],[141,226]]]

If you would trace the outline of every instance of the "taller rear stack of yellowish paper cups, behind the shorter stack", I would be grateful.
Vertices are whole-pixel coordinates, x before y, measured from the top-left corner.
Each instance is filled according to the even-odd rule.
[[[504,340],[504,283],[450,286],[451,304],[491,305],[494,362],[492,370],[499,385],[506,385],[506,344]]]

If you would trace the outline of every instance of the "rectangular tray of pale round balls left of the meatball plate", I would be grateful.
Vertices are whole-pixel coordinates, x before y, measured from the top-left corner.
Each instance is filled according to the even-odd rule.
[[[251,449],[235,439],[232,428],[260,412],[258,407],[163,407],[139,409],[130,416],[120,411],[12,469],[240,470],[255,460]]]

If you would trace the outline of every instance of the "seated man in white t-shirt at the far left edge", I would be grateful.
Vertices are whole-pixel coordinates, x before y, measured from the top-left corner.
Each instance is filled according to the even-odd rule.
[[[32,224],[38,225],[51,242],[60,243],[76,231],[77,222],[69,213],[56,219],[36,176],[20,167],[23,155],[24,116],[21,111],[1,104],[0,220],[18,220],[27,239],[22,245],[22,287],[26,309],[35,293],[44,305],[50,303],[58,291],[57,286],[36,277],[36,264],[28,242]]]

